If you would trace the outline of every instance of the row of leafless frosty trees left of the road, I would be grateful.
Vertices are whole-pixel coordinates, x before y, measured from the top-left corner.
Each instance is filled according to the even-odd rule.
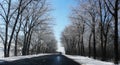
[[[34,47],[35,45],[44,48],[39,48],[39,52],[55,51],[55,47],[49,46],[55,46],[56,44],[54,34],[52,32],[46,33],[52,28],[50,7],[47,0],[0,1],[0,38],[3,41],[5,57],[9,57],[11,50],[14,51],[15,56],[17,56],[18,53],[28,55],[31,51],[37,52],[36,50],[34,51],[36,48]],[[39,32],[44,32],[44,34]],[[39,39],[42,35],[47,35],[45,37],[50,37],[51,39]],[[33,42],[37,39],[39,40]],[[53,41],[48,43],[48,40]],[[39,41],[44,42],[42,43],[43,46],[40,45],[41,42]],[[46,45],[46,47],[44,47],[44,45]]]

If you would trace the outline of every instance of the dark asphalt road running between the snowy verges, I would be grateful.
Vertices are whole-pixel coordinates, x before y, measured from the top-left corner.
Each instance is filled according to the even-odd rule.
[[[12,62],[4,62],[0,65],[80,65],[63,55],[47,55],[34,58],[26,58]]]

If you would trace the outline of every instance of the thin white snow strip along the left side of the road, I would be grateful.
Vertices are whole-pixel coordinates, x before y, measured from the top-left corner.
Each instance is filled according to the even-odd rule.
[[[51,55],[51,54],[37,54],[37,55],[26,55],[26,56],[14,56],[14,57],[0,58],[0,63],[4,62],[4,61],[15,61],[15,60],[20,60],[20,59],[45,56],[45,55]]]

